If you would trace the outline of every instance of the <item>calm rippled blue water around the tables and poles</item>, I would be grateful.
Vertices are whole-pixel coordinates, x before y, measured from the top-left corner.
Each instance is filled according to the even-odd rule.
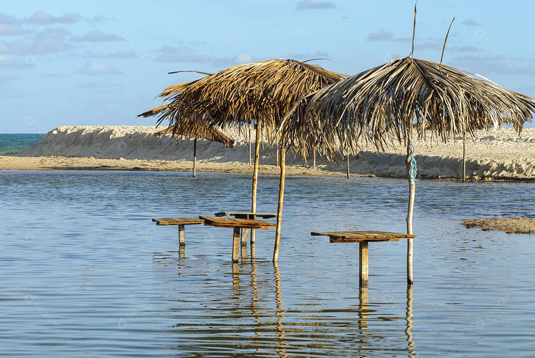
[[[0,172],[0,356],[533,356],[535,237],[463,219],[534,215],[535,185],[419,181],[415,285],[406,242],[358,245],[310,231],[403,231],[407,184],[288,178],[274,230],[230,263],[232,230],[152,217],[247,209],[249,176]],[[258,208],[276,209],[261,177]]]

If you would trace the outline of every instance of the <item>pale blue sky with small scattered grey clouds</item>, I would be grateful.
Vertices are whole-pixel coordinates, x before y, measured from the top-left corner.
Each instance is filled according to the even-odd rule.
[[[269,58],[354,74],[407,56],[413,0],[20,1],[0,11],[0,133],[140,125],[172,83]],[[420,0],[415,57],[535,96],[535,3]]]

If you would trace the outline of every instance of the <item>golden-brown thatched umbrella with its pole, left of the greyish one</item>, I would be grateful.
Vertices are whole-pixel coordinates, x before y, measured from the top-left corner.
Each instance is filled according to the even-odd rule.
[[[294,59],[270,59],[226,68],[196,81],[171,86],[168,108],[159,121],[169,119],[173,131],[202,130],[203,118],[223,128],[236,126],[247,134],[256,127],[251,212],[256,212],[260,136],[264,129],[270,144],[282,117],[300,98],[345,78],[322,67]],[[251,242],[254,242],[251,230]]]

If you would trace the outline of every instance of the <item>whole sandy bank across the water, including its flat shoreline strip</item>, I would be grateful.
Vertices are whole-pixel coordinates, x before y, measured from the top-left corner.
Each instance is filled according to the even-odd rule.
[[[4,170],[149,170],[189,171],[192,169],[193,139],[152,135],[152,126],[64,126],[50,131],[43,140],[25,152],[0,156]],[[198,140],[199,171],[250,173],[247,131],[227,131],[236,139],[234,148]],[[467,175],[472,180],[535,179],[535,128],[522,136],[502,129],[480,132],[467,141]],[[418,175],[421,178],[458,179],[462,170],[462,140],[444,144],[416,141]],[[378,153],[362,145],[357,157],[350,156],[352,176],[404,178],[404,147],[389,146]],[[261,174],[278,174],[276,149],[263,141]],[[287,155],[287,174],[292,176],[344,176],[345,159],[326,163],[317,156],[305,163]]]

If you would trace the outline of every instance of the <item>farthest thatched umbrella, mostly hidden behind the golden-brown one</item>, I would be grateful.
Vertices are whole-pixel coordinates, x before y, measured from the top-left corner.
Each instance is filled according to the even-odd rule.
[[[164,109],[166,109],[167,106],[169,106],[169,104],[163,104],[161,106],[157,106],[155,108],[148,110],[147,112],[141,113],[141,115],[139,115],[138,117],[156,116],[158,115],[158,113],[161,113]],[[189,138],[193,138],[193,177],[194,178],[197,176],[197,139],[198,138],[223,143],[223,145],[227,148],[234,147],[234,139],[232,139],[230,136],[218,130],[218,128],[215,125],[209,123],[208,121],[206,121],[204,127],[197,128],[195,131],[184,130],[183,132],[175,132],[173,127],[167,127],[162,131],[158,131],[154,133],[154,135],[157,135],[157,136],[164,135],[164,134],[171,134],[173,136],[182,135],[182,136],[187,136]]]

